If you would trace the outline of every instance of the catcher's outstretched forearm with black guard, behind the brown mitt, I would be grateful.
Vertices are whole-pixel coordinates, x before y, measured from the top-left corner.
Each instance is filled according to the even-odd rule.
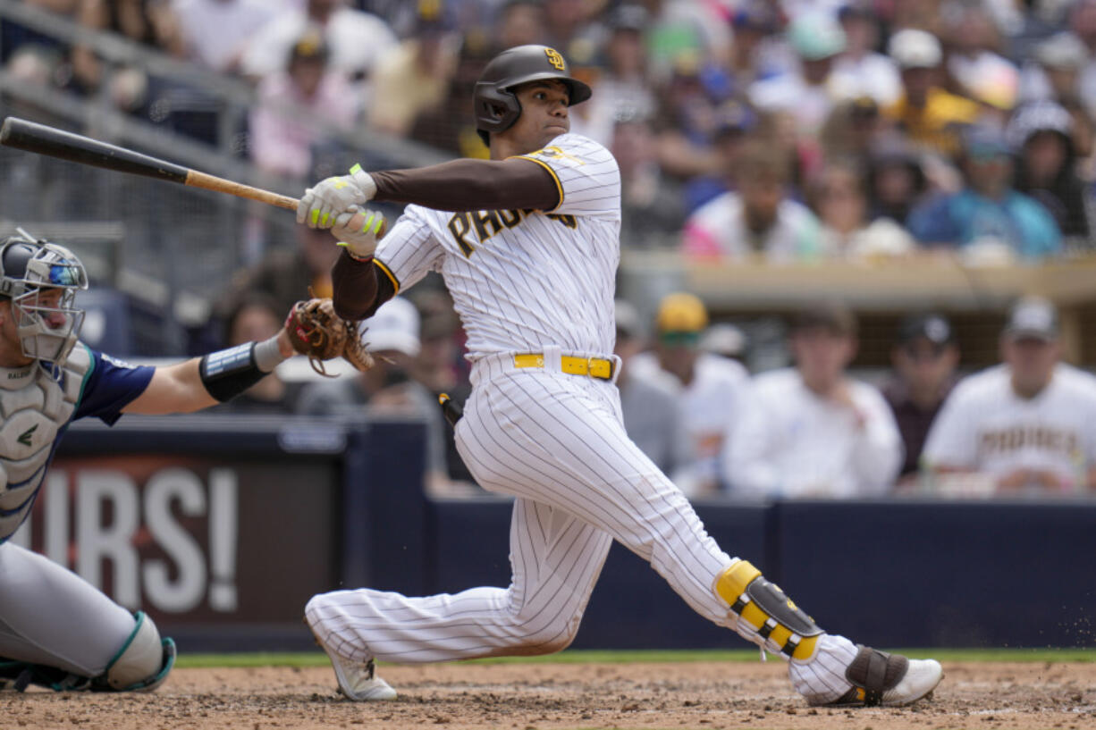
[[[283,327],[263,342],[248,342],[158,367],[145,392],[123,412],[164,415],[201,411],[240,395],[293,354],[293,343]]]

